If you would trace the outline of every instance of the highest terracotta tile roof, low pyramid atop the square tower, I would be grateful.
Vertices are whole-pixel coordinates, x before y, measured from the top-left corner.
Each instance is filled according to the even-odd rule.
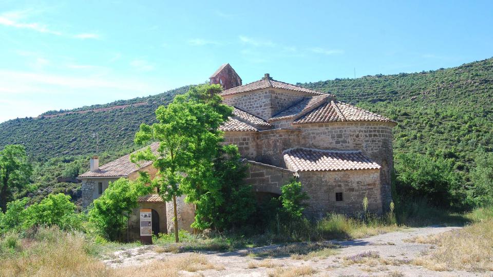
[[[278,88],[278,89],[285,89],[285,90],[292,90],[292,91],[297,91],[297,92],[303,92],[307,94],[315,94],[315,95],[324,95],[327,93],[313,90],[313,89],[308,89],[296,85],[291,85],[288,83],[272,80],[272,78],[262,78],[259,81],[239,86],[239,87],[234,87],[230,88],[227,90],[224,90],[221,92],[221,96],[226,96],[226,95],[232,95],[232,94],[237,94],[241,92],[247,92],[247,91],[254,91],[254,90],[259,90],[259,89],[267,89],[267,88]]]

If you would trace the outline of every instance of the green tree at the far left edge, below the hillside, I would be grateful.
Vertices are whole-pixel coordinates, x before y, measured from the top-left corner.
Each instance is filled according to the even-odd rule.
[[[31,173],[24,146],[7,145],[0,151],[0,210],[6,210],[13,189],[20,190],[29,184]]]

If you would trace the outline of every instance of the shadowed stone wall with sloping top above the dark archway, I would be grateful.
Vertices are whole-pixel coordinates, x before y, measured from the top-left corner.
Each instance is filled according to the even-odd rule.
[[[256,192],[281,194],[281,186],[288,183],[295,174],[294,171],[285,168],[254,161],[248,161],[248,164],[245,182],[253,185],[253,189]]]

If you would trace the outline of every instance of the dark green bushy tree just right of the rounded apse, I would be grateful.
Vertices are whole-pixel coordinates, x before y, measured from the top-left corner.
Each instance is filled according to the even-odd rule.
[[[458,207],[464,199],[453,161],[416,153],[398,154],[396,190],[402,199],[425,198],[435,206]]]

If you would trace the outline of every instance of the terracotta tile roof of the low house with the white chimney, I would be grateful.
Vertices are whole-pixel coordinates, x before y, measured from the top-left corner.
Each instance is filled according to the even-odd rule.
[[[156,151],[159,147],[159,142],[150,145],[151,150]],[[144,149],[144,148],[142,148]],[[142,150],[140,149],[140,150]],[[140,151],[137,150],[137,151]],[[137,152],[136,151],[136,152]],[[135,153],[135,152],[134,152]],[[117,160],[109,162],[103,166],[99,167],[97,172],[87,171],[81,175],[79,178],[97,178],[97,177],[126,177],[130,173],[133,173],[141,168],[144,168],[153,162],[141,162],[140,167],[136,164],[130,162],[130,154],[119,157]]]

